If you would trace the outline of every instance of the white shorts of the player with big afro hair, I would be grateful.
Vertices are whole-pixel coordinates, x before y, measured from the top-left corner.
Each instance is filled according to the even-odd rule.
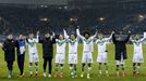
[[[93,63],[92,52],[84,52],[83,53],[82,63]]]

